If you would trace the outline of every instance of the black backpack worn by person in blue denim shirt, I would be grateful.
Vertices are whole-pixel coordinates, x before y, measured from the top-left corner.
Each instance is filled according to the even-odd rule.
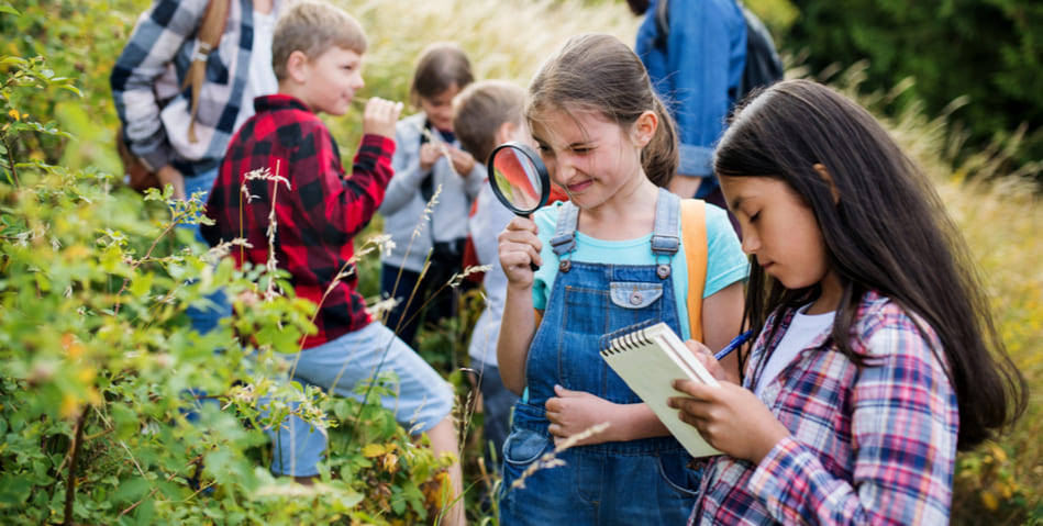
[[[669,0],[659,0],[654,14],[655,26],[658,30],[655,45],[664,51],[670,34],[669,3]],[[739,5],[746,19],[746,66],[743,68],[737,92],[730,93],[732,100],[736,102],[756,88],[768,87],[781,80],[785,74],[783,60],[779,59],[778,52],[775,51],[772,33],[768,33],[764,22],[761,22],[761,19],[753,14],[753,11],[746,9],[742,3]]]

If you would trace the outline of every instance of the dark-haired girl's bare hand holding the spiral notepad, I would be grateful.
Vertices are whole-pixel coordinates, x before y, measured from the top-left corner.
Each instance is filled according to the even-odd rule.
[[[674,389],[690,395],[674,396],[667,405],[680,410],[680,419],[699,429],[711,446],[725,454],[761,463],[787,429],[752,391],[732,382],[720,387],[674,380]]]

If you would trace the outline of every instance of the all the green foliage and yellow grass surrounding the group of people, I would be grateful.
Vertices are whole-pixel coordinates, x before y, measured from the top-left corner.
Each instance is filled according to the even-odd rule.
[[[430,42],[459,42],[479,78],[524,85],[566,36],[604,31],[632,42],[639,22],[608,0],[337,3],[369,33],[362,94],[398,100],[406,100],[413,59]],[[268,446],[253,401],[262,393],[304,400],[296,387],[270,381],[279,373],[270,351],[285,350],[287,338],[260,346],[259,365],[247,368],[244,357],[254,347],[236,344],[231,327],[200,340],[187,329],[184,310],[218,284],[263,288],[270,277],[259,269],[207,270],[198,247],[180,249],[188,243],[184,234],[163,234],[191,210],[142,201],[113,176],[119,163],[108,75],[147,4],[0,2],[0,521],[431,521],[440,460],[373,403],[320,399],[296,410],[341,424],[318,489],[302,491],[263,468]],[[986,277],[1009,351],[1030,385],[1043,385],[1043,209],[1038,187],[1020,177],[1039,170],[1040,7],[1017,0],[748,4],[775,30],[789,76],[819,78],[858,98],[937,181]],[[8,60],[35,56],[46,63]],[[34,80],[12,81],[26,68],[35,76],[23,78]],[[963,94],[969,102],[951,104]],[[345,152],[357,141],[357,114],[328,119]],[[1023,135],[1022,122],[1029,123]],[[7,182],[12,164],[19,187]],[[368,233],[379,232],[379,223]],[[143,261],[156,239],[152,259]],[[359,261],[370,295],[376,259]],[[473,483],[470,515],[495,522],[480,503],[496,483],[478,461],[480,416],[471,415],[471,389],[458,372],[467,365],[467,320],[478,310],[477,298],[465,300],[469,317],[423,334],[421,351],[459,389],[470,437],[462,452]],[[303,329],[307,313],[290,298],[276,299],[237,328],[270,339],[280,327]],[[200,351],[215,346],[225,352]],[[189,423],[188,388],[221,396],[225,410],[206,404],[202,425]],[[1043,522],[1036,392],[1010,434],[959,457],[954,523]],[[77,441],[82,449],[74,462]],[[197,492],[189,479],[213,491]]]

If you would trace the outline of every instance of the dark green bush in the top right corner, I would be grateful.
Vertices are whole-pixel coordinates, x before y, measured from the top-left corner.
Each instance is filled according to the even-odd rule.
[[[997,142],[1020,143],[1007,171],[1043,159],[1043,4],[1033,0],[794,0],[779,36],[814,71],[868,60],[865,88],[913,86],[898,107],[940,114],[961,99],[950,141],[957,160]],[[963,99],[966,98],[966,99]],[[957,103],[958,105],[958,103]],[[1024,127],[1022,127],[1024,126]],[[1020,134],[1024,134],[1021,138]],[[966,141],[966,143],[965,143]],[[1039,172],[1039,167],[1031,168]]]

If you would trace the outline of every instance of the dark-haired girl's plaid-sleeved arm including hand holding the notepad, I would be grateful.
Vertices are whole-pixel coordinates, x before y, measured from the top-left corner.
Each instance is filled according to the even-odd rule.
[[[678,382],[692,398],[672,404],[714,447],[756,465],[747,489],[780,523],[947,524],[958,429],[955,393],[914,329],[885,327],[868,344],[873,361],[854,384],[819,385],[826,392],[809,400],[803,416],[821,411],[815,402],[830,398],[830,389],[851,390],[850,479],[828,470],[739,385]],[[802,426],[803,433],[810,429]]]

